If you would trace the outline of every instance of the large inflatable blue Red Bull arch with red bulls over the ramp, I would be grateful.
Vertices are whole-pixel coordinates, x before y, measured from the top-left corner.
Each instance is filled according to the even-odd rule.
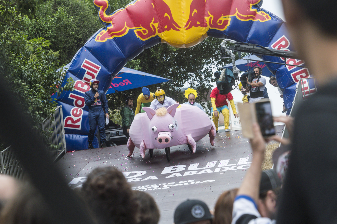
[[[264,47],[289,50],[284,21],[260,8],[263,0],[135,0],[110,13],[108,0],[94,0],[104,28],[98,30],[75,54],[66,78],[75,81],[74,91],[63,92],[57,101],[63,106],[67,150],[88,148],[88,107],[84,93],[95,78],[99,89],[107,91],[113,77],[127,61],[145,48],[159,43],[192,47],[207,37],[231,39]],[[263,60],[303,65],[302,60],[263,56]],[[284,89],[290,108],[296,83],[309,77],[306,68],[266,63]],[[95,137],[93,145],[98,147]]]

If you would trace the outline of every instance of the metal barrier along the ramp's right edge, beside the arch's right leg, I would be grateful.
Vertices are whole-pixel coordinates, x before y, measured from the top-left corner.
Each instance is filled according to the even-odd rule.
[[[317,92],[317,87],[314,77],[300,79],[298,82],[298,87],[296,89],[293,106],[292,109],[290,110],[289,116],[294,117],[296,111],[300,108],[300,105],[303,103],[303,101],[308,99],[315,92]],[[289,132],[285,128],[285,125],[282,130],[281,138],[289,138]]]

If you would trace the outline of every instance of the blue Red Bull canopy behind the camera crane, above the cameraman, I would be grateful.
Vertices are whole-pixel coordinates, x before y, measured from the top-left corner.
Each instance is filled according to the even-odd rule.
[[[252,59],[252,60],[250,60],[250,59]],[[236,60],[235,65],[241,72],[250,71],[254,67],[259,66],[259,67],[262,68],[262,75],[263,76],[271,77],[273,75],[269,71],[269,69],[267,68],[267,66],[264,62],[253,61],[253,60],[261,60],[261,58],[257,57],[256,55],[249,54],[249,55],[243,57],[242,59]],[[221,69],[224,69],[224,68],[233,69],[233,63],[227,64],[227,65],[221,67]]]

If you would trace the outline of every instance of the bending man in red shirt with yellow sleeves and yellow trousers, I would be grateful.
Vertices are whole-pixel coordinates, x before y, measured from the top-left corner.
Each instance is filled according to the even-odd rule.
[[[228,125],[229,125],[229,109],[228,109],[228,103],[226,99],[229,100],[229,103],[231,104],[233,114],[236,118],[239,117],[239,115],[236,112],[236,108],[234,105],[234,100],[232,94],[229,92],[226,95],[221,95],[218,88],[215,87],[211,92],[211,113],[212,113],[212,119],[216,128],[216,133],[218,133],[218,119],[219,119],[219,113],[221,112],[224,117],[225,122],[225,132],[229,131]]]

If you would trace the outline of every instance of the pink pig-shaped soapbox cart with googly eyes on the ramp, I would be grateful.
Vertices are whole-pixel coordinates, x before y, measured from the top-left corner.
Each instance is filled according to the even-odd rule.
[[[214,146],[215,126],[207,114],[196,106],[178,106],[179,103],[175,103],[167,109],[162,107],[157,110],[143,107],[146,113],[137,114],[129,130],[127,156],[132,155],[134,146],[140,149],[142,158],[147,149],[152,157],[154,148],[165,148],[167,161],[170,161],[171,146],[188,144],[190,151],[194,153],[195,142],[207,134]]]

